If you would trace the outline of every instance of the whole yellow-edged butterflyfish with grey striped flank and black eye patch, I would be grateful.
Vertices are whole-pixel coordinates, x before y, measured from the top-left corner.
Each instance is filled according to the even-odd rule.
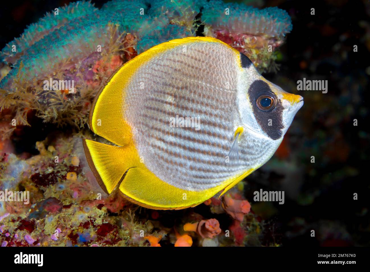
[[[89,179],[154,209],[226,192],[276,151],[303,105],[248,57],[210,37],[159,44],[124,64],[95,97],[80,140]]]

